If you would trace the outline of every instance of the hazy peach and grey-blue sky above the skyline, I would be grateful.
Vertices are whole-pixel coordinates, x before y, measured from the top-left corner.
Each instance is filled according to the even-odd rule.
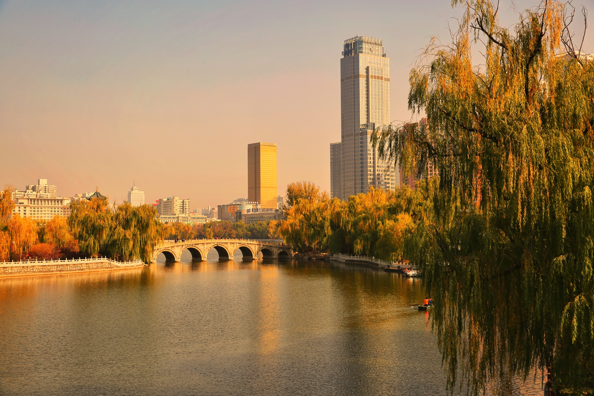
[[[502,0],[500,19],[536,4]],[[247,198],[247,145],[274,142],[279,195],[298,180],[330,191],[343,41],[383,40],[391,119],[414,120],[410,68],[462,13],[449,0],[0,0],[0,185],[48,179],[121,202],[135,183],[146,202],[216,206]]]

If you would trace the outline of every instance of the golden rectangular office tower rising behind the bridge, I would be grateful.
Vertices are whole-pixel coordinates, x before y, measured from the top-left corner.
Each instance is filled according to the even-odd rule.
[[[276,144],[248,144],[248,201],[276,208]]]

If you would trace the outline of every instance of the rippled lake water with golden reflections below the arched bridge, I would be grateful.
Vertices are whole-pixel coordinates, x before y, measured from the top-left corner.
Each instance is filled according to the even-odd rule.
[[[0,394],[445,394],[428,316],[410,308],[419,280],[327,261],[182,259],[0,278]]]

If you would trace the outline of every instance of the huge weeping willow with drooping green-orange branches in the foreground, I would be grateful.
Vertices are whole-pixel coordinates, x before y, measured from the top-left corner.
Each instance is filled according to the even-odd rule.
[[[435,303],[448,387],[478,394],[539,368],[552,374],[545,392],[592,394],[594,62],[559,2],[512,30],[489,1],[464,7],[453,43],[433,40],[410,73],[409,108],[426,127],[374,134],[405,173],[438,169],[419,185],[430,204],[405,254]]]

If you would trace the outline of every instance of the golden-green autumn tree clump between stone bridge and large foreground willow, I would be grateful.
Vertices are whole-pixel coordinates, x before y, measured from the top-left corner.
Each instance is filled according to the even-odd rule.
[[[287,208],[279,233],[298,251],[311,247],[402,260],[403,237],[414,229],[419,205],[421,195],[407,187],[395,192],[371,188],[348,201],[318,194]]]

